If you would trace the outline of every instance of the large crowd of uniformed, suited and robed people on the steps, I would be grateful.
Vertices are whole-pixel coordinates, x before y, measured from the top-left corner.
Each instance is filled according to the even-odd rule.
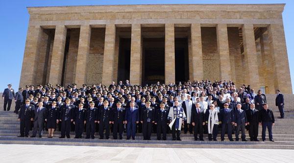
[[[150,140],[151,134],[157,134],[157,140],[167,140],[172,133],[172,140],[181,140],[180,134],[194,133],[195,140],[208,139],[221,141],[227,134],[228,140],[247,141],[245,130],[248,130],[251,141],[259,141],[258,126],[262,125],[262,140],[265,141],[268,128],[270,141],[275,119],[268,108],[266,95],[261,90],[255,93],[243,85],[237,88],[232,81],[187,81],[169,85],[156,84],[140,86],[131,85],[128,80],[117,85],[112,82],[105,85],[76,84],[64,88],[61,85],[25,86],[14,92],[8,84],[2,97],[4,111],[9,111],[15,100],[15,111],[20,121],[20,136],[41,138],[43,130],[48,130],[48,138],[54,131],[61,131],[59,138],[71,138],[75,132],[76,139],[136,138],[136,133],[143,133],[144,140]],[[55,87],[55,88],[54,88]],[[276,106],[280,117],[284,118],[284,98],[276,90]],[[8,107],[7,107],[8,104]],[[119,137],[118,137],[119,135]]]

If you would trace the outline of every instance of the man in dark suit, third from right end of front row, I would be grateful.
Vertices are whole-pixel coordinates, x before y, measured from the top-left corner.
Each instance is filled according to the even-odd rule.
[[[241,130],[242,141],[247,141],[245,135],[245,126],[247,125],[247,117],[244,110],[241,109],[242,105],[237,104],[237,109],[235,110],[235,136],[236,141],[239,141],[239,133]]]

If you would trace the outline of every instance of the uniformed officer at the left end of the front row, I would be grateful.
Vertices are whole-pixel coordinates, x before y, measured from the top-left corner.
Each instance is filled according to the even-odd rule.
[[[21,135],[18,137],[28,137],[30,122],[33,120],[34,105],[31,105],[30,100],[25,99],[25,104],[22,105],[18,120],[21,121]]]

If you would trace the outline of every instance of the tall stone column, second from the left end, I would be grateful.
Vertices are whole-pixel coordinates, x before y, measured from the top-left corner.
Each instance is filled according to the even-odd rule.
[[[61,83],[64,49],[66,41],[67,28],[65,25],[57,25],[52,50],[51,67],[49,74],[49,83],[53,86]]]

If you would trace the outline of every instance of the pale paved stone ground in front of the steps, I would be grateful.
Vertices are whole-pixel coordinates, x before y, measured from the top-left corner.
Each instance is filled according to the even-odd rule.
[[[0,144],[1,163],[293,163],[294,150]]]

